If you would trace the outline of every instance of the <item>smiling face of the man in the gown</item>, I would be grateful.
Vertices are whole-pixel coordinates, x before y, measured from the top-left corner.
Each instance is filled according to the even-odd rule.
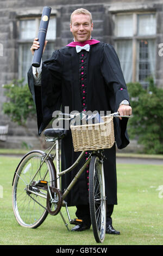
[[[87,14],[74,14],[70,23],[70,31],[74,36],[74,41],[83,42],[91,39],[93,23]]]

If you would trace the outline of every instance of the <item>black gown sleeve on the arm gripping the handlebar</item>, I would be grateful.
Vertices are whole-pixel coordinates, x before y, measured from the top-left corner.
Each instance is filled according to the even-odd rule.
[[[104,44],[101,57],[101,72],[108,87],[108,100],[112,112],[117,112],[122,100],[129,102],[126,82],[123,77],[120,61],[117,53],[109,44]],[[123,117],[122,120],[114,118],[115,124],[115,140],[118,148],[124,148],[129,144],[127,134],[128,118]]]

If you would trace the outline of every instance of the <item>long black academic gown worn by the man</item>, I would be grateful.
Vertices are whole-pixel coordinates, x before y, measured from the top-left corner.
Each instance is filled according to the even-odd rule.
[[[54,51],[52,57],[42,64],[41,87],[34,86],[32,67],[28,72],[30,92],[36,104],[37,126],[39,134],[52,120],[55,110],[65,111],[69,106],[81,112],[82,101],[79,81],[79,55],[75,47],[65,46]],[[110,44],[97,43],[90,46],[87,53],[87,110],[98,112],[111,110],[116,112],[122,100],[129,96],[123,78],[120,62]],[[115,140],[118,148],[129,144],[126,131],[128,118],[115,118]],[[67,169],[74,163],[80,152],[74,152],[71,131],[62,140],[61,169]],[[105,188],[107,204],[117,204],[116,152],[115,145],[105,150],[104,162]],[[77,169],[62,177],[62,190],[72,181]],[[79,181],[68,194],[68,206],[88,204],[87,173],[83,172]]]

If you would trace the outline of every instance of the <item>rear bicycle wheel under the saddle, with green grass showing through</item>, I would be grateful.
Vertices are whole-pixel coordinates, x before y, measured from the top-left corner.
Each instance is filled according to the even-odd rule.
[[[44,156],[43,151],[30,151],[22,158],[15,171],[12,183],[12,207],[16,221],[22,227],[37,228],[48,215],[47,191],[29,184]],[[34,182],[43,179],[49,182],[49,186],[54,186],[55,175],[55,166],[51,159],[47,159],[34,178]],[[30,193],[29,188],[45,198]]]

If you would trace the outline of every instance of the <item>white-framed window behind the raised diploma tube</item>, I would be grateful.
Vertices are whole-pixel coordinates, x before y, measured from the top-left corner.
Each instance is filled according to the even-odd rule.
[[[41,17],[30,19],[21,19],[19,21],[19,38],[18,38],[18,78],[24,78],[27,82],[27,72],[31,66],[33,55],[30,52],[30,47],[33,40],[38,35]],[[43,53],[43,59],[51,57],[54,50],[54,41],[56,38],[56,18],[52,16],[49,20],[46,40],[48,44]]]

